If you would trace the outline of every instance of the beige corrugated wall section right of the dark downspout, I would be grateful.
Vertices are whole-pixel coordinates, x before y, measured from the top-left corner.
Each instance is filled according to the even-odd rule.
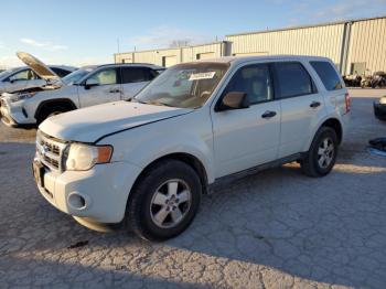
[[[386,18],[352,23],[345,73],[353,73],[356,63],[364,64],[366,74],[386,71]]]

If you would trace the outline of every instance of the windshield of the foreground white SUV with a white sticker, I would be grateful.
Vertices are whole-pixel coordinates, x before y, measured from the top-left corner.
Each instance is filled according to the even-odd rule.
[[[197,108],[205,104],[228,69],[225,63],[187,63],[175,65],[137,96],[144,104]]]

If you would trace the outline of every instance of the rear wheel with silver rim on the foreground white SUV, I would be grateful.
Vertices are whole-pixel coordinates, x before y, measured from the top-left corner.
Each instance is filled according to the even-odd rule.
[[[328,149],[323,150],[325,148]],[[301,161],[302,172],[312,178],[326,175],[335,164],[337,149],[335,130],[321,127],[312,140],[310,150]]]

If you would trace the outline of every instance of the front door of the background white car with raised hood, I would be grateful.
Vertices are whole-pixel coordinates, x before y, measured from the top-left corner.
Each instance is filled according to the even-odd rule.
[[[117,76],[115,67],[104,67],[88,77],[78,89],[81,107],[120,100],[122,90]],[[87,81],[94,85],[88,86]]]

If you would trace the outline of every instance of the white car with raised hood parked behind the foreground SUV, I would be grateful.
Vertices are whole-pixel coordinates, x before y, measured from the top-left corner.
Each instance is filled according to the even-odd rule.
[[[152,64],[108,64],[86,66],[61,78],[32,55],[18,56],[47,84],[2,95],[0,111],[8,126],[39,125],[81,107],[130,99],[164,71]]]

